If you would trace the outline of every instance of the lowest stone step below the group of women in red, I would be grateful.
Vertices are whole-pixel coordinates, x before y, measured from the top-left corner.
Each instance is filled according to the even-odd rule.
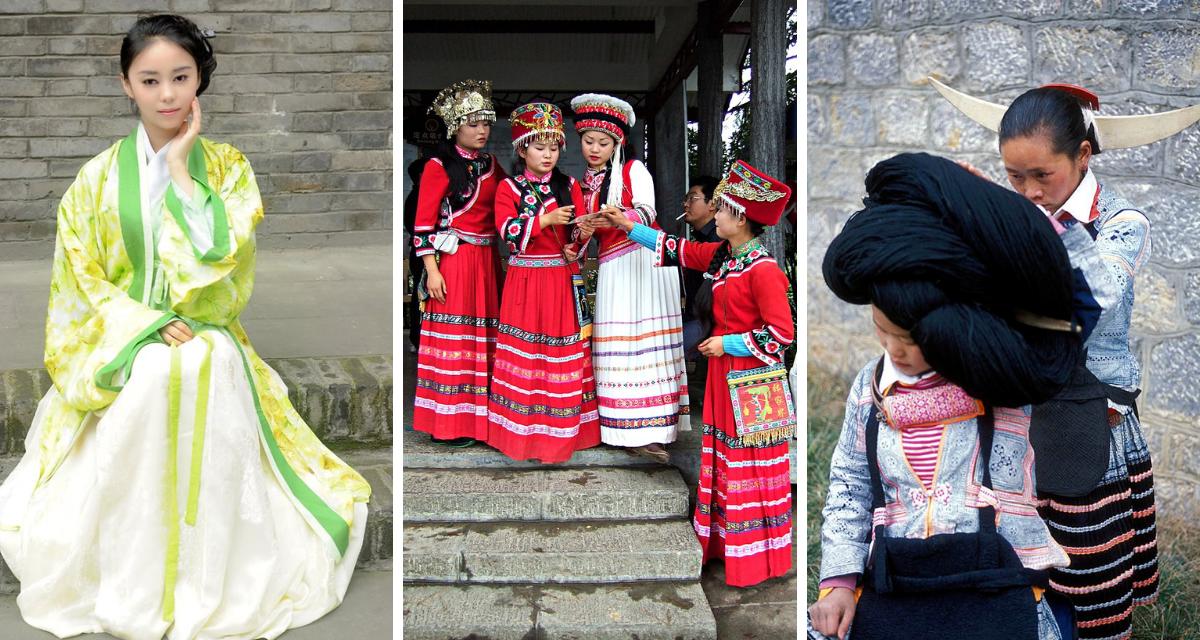
[[[716,640],[696,582],[409,585],[404,640]]]

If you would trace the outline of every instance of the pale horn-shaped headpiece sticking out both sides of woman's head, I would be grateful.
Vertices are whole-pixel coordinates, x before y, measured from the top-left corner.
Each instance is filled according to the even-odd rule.
[[[1004,118],[1008,107],[968,96],[932,77],[929,83],[967,118],[991,131],[1000,131],[1000,120]],[[1200,121],[1200,104],[1147,115],[1097,115],[1096,133],[1104,149],[1128,149],[1169,138],[1196,121]]]

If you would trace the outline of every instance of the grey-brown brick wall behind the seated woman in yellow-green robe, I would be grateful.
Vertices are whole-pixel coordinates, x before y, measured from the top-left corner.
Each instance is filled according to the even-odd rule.
[[[121,37],[172,11],[216,31],[204,136],[250,158],[262,246],[391,237],[388,0],[0,2],[0,257],[48,258],[79,166],[136,125]]]

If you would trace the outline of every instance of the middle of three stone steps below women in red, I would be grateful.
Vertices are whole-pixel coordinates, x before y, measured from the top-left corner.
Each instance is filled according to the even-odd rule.
[[[698,580],[688,520],[455,522],[404,527],[406,582]]]

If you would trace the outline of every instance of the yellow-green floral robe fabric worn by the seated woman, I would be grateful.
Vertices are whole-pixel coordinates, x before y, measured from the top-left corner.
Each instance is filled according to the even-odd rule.
[[[208,183],[228,216],[230,251],[202,262],[192,239],[163,205],[155,211],[162,237],[156,263],[166,279],[163,309],[132,299],[134,268],[120,222],[118,150],[112,145],[88,161],[67,189],[58,210],[58,241],[46,327],[46,365],[56,393],[43,405],[41,475],[53,475],[78,436],[89,412],[107,407],[124,381],[113,364],[132,363],[140,346],[157,341],[157,329],[181,318],[196,325],[228,329],[245,352],[262,411],[287,463],[323,502],[347,522],[355,502],[370,495],[367,483],[317,438],[293,408],[278,375],[254,352],[239,322],[254,279],[254,227],[263,217],[253,171],[228,144],[205,138]]]

